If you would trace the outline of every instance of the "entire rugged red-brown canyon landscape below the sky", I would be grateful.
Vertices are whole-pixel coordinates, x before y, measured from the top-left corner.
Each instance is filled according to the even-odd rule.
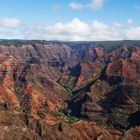
[[[0,40],[1,140],[140,139],[140,41]]]

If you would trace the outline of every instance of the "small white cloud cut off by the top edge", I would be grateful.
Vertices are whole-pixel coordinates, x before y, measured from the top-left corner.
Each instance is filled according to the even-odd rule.
[[[104,5],[105,0],[91,0],[88,4],[88,7],[91,7],[92,9],[101,9]]]

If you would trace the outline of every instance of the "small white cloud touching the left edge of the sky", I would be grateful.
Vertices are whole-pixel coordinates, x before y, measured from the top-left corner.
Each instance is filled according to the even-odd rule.
[[[4,18],[0,19],[0,26],[16,28],[20,25],[20,20],[12,19],[12,18]]]

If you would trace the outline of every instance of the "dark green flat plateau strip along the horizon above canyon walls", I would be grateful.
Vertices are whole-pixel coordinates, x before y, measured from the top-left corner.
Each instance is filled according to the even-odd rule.
[[[22,45],[68,45],[72,48],[74,47],[90,47],[91,45],[103,47],[105,51],[112,51],[113,49],[120,47],[122,45],[127,45],[129,47],[140,47],[140,40],[120,40],[120,41],[47,41],[47,40],[19,40],[19,39],[0,39],[0,45],[4,46],[16,46],[21,47]]]

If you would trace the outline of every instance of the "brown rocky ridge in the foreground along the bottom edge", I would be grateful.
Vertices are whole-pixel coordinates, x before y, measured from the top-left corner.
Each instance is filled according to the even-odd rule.
[[[123,133],[87,121],[49,125],[21,113],[0,111],[0,116],[1,140],[135,140],[140,136],[139,127]]]

